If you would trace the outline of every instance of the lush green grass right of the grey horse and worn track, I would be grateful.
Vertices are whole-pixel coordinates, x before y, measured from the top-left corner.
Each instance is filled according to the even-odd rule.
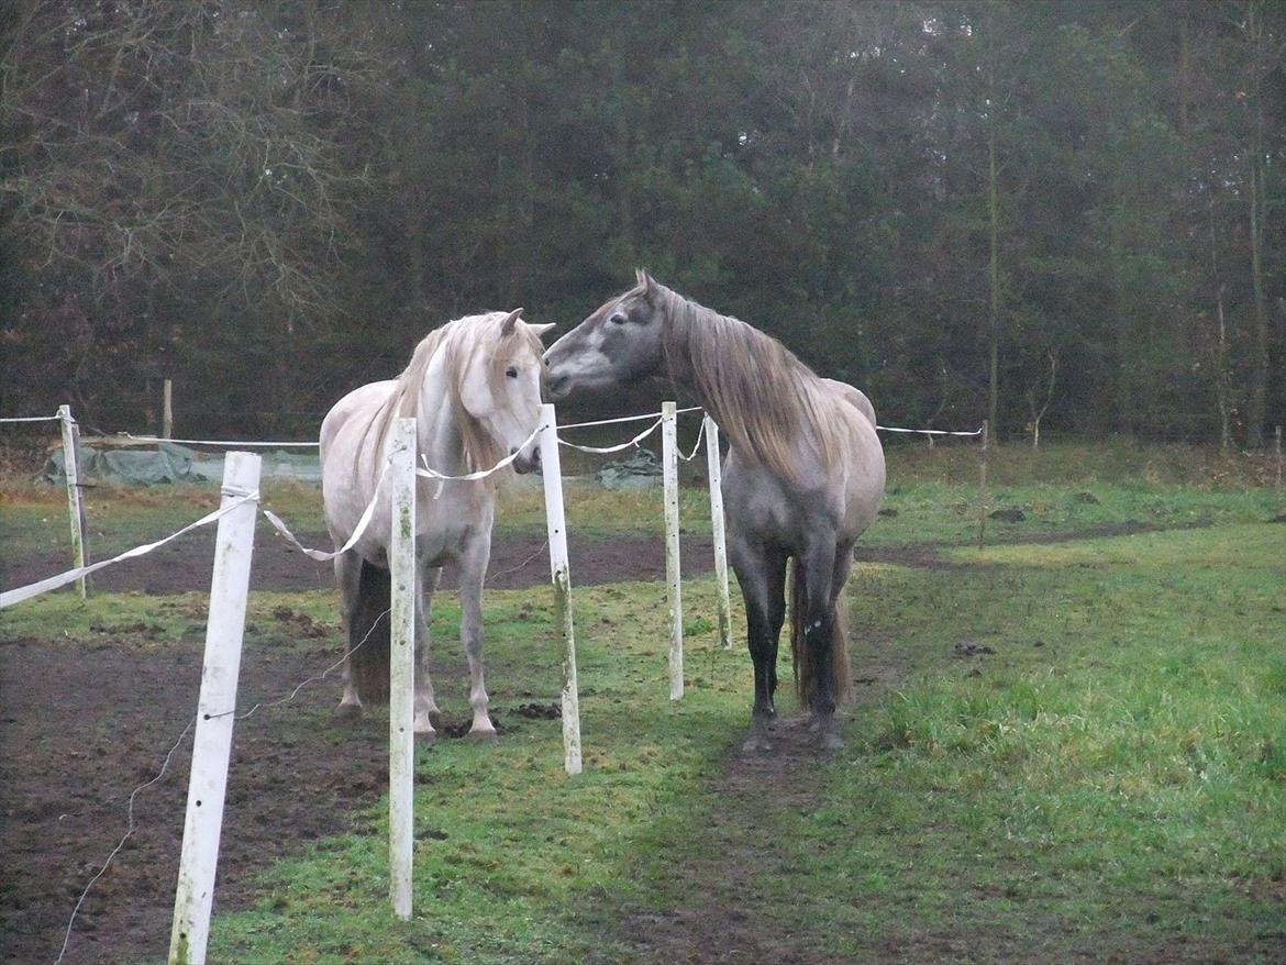
[[[783,865],[822,868],[792,890],[836,923],[829,950],[986,934],[980,960],[1280,952],[1282,528],[954,556],[989,569],[901,574],[859,603],[928,656],[859,714],[819,805],[783,820]],[[962,638],[995,654],[949,657]],[[898,896],[905,915],[881,919]]]

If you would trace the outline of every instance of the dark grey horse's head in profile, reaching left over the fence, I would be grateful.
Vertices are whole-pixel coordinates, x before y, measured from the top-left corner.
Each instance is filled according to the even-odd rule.
[[[665,309],[661,286],[647,271],[637,284],[604,302],[545,353],[549,394],[604,391],[661,372]]]

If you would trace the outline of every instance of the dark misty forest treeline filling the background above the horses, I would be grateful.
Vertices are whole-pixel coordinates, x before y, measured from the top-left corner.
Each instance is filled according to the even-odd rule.
[[[1286,418],[1286,5],[19,0],[0,413],[312,432],[634,266],[903,425]]]

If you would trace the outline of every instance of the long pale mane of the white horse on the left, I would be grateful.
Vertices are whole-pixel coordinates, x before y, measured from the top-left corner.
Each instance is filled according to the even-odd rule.
[[[419,409],[419,387],[428,374],[428,367],[433,358],[441,351],[446,373],[448,398],[455,417],[455,425],[460,431],[464,443],[464,462],[469,472],[494,466],[504,457],[502,445],[490,436],[482,423],[473,418],[464,403],[460,400],[460,390],[464,385],[464,373],[468,372],[469,363],[478,353],[487,353],[487,383],[493,392],[499,394],[504,386],[504,369],[509,359],[527,344],[536,356],[540,356],[540,336],[526,326],[516,326],[513,333],[505,338],[500,337],[500,323],[508,313],[491,311],[485,315],[466,315],[454,322],[448,322],[441,328],[435,328],[424,336],[415,351],[412,353],[410,363],[397,377],[394,391],[376,410],[368,434],[374,431],[374,445],[369,446],[373,471],[377,471],[379,454],[385,449],[385,441],[392,431],[394,419],[414,416],[422,418]],[[367,446],[359,446],[355,458]],[[496,476],[487,476],[485,485],[495,485]]]

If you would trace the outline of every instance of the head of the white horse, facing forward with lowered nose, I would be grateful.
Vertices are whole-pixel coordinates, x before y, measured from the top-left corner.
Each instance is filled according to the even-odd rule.
[[[553,326],[530,326],[521,315],[522,309],[514,309],[484,317],[478,341],[460,358],[455,389],[460,407],[481,430],[478,435],[486,436],[469,439],[466,428],[467,448],[475,454],[517,454],[513,468],[531,472],[540,466],[539,441],[532,437],[540,421],[544,377],[540,336]]]

